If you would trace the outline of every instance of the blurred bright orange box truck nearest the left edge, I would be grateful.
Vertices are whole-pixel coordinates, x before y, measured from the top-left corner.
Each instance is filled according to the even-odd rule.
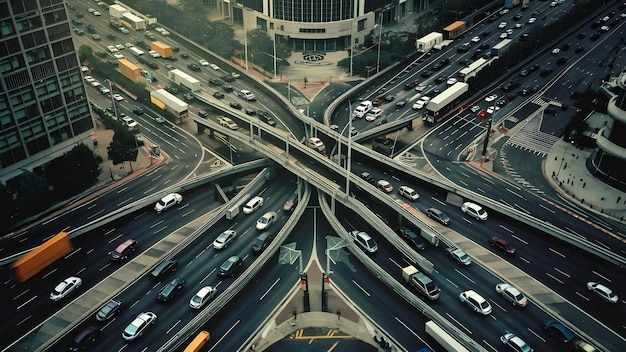
[[[74,247],[70,234],[59,232],[54,237],[33,249],[11,264],[15,279],[24,282],[37,275],[41,270],[56,260],[68,255]]]

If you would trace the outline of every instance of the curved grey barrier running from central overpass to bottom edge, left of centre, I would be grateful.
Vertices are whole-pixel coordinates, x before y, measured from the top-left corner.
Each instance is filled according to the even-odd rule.
[[[241,289],[247,285],[250,280],[263,268],[267,261],[274,256],[274,253],[280,248],[281,243],[287,238],[289,233],[296,226],[300,217],[306,209],[307,203],[311,196],[311,189],[307,183],[304,184],[304,193],[298,202],[293,214],[285,223],[285,226],[278,232],[276,238],[268,248],[263,251],[256,259],[256,265],[250,265],[239,277],[231,284],[231,286],[220,294],[213,302],[211,302],[201,313],[192,319],[187,325],[180,329],[157,351],[173,351],[181,347],[186,339],[191,337],[203,324],[230,302]]]

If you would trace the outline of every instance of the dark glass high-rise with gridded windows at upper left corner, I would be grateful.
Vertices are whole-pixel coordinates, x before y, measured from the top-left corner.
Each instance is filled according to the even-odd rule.
[[[63,0],[0,0],[0,181],[94,128]]]

